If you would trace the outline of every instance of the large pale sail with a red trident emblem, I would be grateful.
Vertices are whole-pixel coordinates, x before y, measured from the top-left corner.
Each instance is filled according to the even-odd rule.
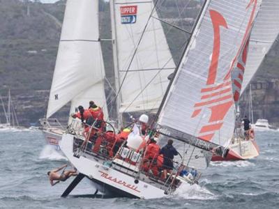
[[[202,139],[199,148],[206,147],[206,141],[227,146],[235,121],[231,72],[245,47],[260,3],[206,1],[160,109],[160,132],[182,140]]]

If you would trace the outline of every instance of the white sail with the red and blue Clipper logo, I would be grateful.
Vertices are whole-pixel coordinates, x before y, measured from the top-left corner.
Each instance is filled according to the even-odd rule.
[[[154,3],[114,0],[111,10],[119,111],[158,109],[175,65]]]

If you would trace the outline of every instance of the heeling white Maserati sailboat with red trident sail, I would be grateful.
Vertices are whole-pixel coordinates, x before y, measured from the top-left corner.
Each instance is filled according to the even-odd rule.
[[[135,16],[141,12],[138,6],[135,13],[138,1],[125,2],[114,1],[120,10],[115,15],[126,14],[123,9],[126,8],[129,14],[123,15],[122,24],[135,24],[138,20]],[[84,137],[78,134],[82,130],[75,130],[77,121],[74,121],[63,134],[60,146],[80,174],[62,196],[67,196],[86,177],[103,192],[142,199],[160,198],[174,194],[182,184],[197,183],[212,153],[226,155],[235,125],[232,70],[245,47],[260,4],[261,1],[255,0],[204,2],[152,125],[152,132],[156,132],[161,141],[165,137],[172,138],[174,146],[183,152],[180,158],[174,158],[175,169],[168,173],[167,179],[145,172],[142,169],[144,152],[138,153],[133,147],[123,144],[113,157],[106,154],[105,146],[97,153],[92,150],[94,144],[82,147]],[[153,1],[142,1],[141,5],[156,10]],[[181,175],[181,171],[195,171],[197,175],[190,178]]]

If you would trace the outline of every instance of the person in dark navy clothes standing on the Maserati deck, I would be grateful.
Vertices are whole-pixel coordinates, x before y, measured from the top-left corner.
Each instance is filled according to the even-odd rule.
[[[172,146],[174,141],[169,139],[167,141],[167,145],[165,145],[161,150],[160,154],[163,154],[163,179],[167,178],[167,172],[171,173],[172,169],[174,169],[174,155],[178,155],[177,150]]]

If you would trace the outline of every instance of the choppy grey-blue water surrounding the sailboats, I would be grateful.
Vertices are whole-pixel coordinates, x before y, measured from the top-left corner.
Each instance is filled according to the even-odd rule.
[[[83,180],[72,196],[60,195],[70,183],[50,186],[47,171],[66,159],[45,146],[43,134],[0,132],[0,208],[279,208],[279,132],[257,132],[261,154],[255,160],[214,162],[200,184],[182,187],[164,199],[92,199]]]

